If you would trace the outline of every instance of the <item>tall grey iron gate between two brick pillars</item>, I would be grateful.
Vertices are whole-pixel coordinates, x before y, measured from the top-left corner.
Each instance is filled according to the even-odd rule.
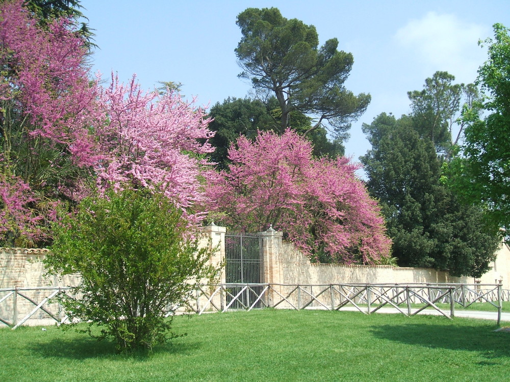
[[[226,284],[260,284],[264,282],[263,272],[262,237],[258,233],[226,232]],[[229,285],[226,303],[230,304],[235,299],[231,305],[232,309],[246,309],[253,304],[255,304],[253,308],[262,308],[262,301],[257,301],[262,289],[262,286],[252,286],[239,294],[242,286]]]

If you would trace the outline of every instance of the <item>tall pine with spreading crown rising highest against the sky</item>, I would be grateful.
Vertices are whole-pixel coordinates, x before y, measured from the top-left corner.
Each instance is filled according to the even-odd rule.
[[[344,86],[352,54],[337,50],[337,39],[319,48],[315,26],[287,19],[277,8],[248,8],[238,15],[237,25],[243,35],[236,49],[240,77],[250,79],[260,94],[276,96],[278,132],[294,127],[290,114],[298,111],[315,116],[304,134],[327,121],[345,139],[351,121],[370,103],[370,95],[356,96]]]

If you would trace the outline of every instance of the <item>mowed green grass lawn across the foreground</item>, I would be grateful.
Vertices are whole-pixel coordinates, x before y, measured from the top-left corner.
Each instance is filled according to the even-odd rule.
[[[466,318],[272,309],[179,316],[175,332],[188,336],[148,356],[45,329],[0,330],[0,381],[510,380],[510,333]]]

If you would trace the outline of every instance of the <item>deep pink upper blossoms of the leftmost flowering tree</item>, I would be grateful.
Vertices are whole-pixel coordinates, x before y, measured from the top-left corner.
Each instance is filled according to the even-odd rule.
[[[21,1],[4,2],[1,15],[0,100],[22,114],[17,127],[34,154],[60,145],[77,165],[90,166],[98,156],[89,131],[101,111],[83,65],[83,41],[65,19],[49,31],[38,28]],[[41,140],[45,147],[37,146]]]

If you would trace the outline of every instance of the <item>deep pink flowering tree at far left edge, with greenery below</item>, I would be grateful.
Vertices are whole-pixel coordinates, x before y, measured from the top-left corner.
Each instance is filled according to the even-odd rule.
[[[49,207],[72,200],[99,159],[83,40],[68,20],[40,29],[22,3],[0,7],[0,231],[11,244],[43,240]]]

